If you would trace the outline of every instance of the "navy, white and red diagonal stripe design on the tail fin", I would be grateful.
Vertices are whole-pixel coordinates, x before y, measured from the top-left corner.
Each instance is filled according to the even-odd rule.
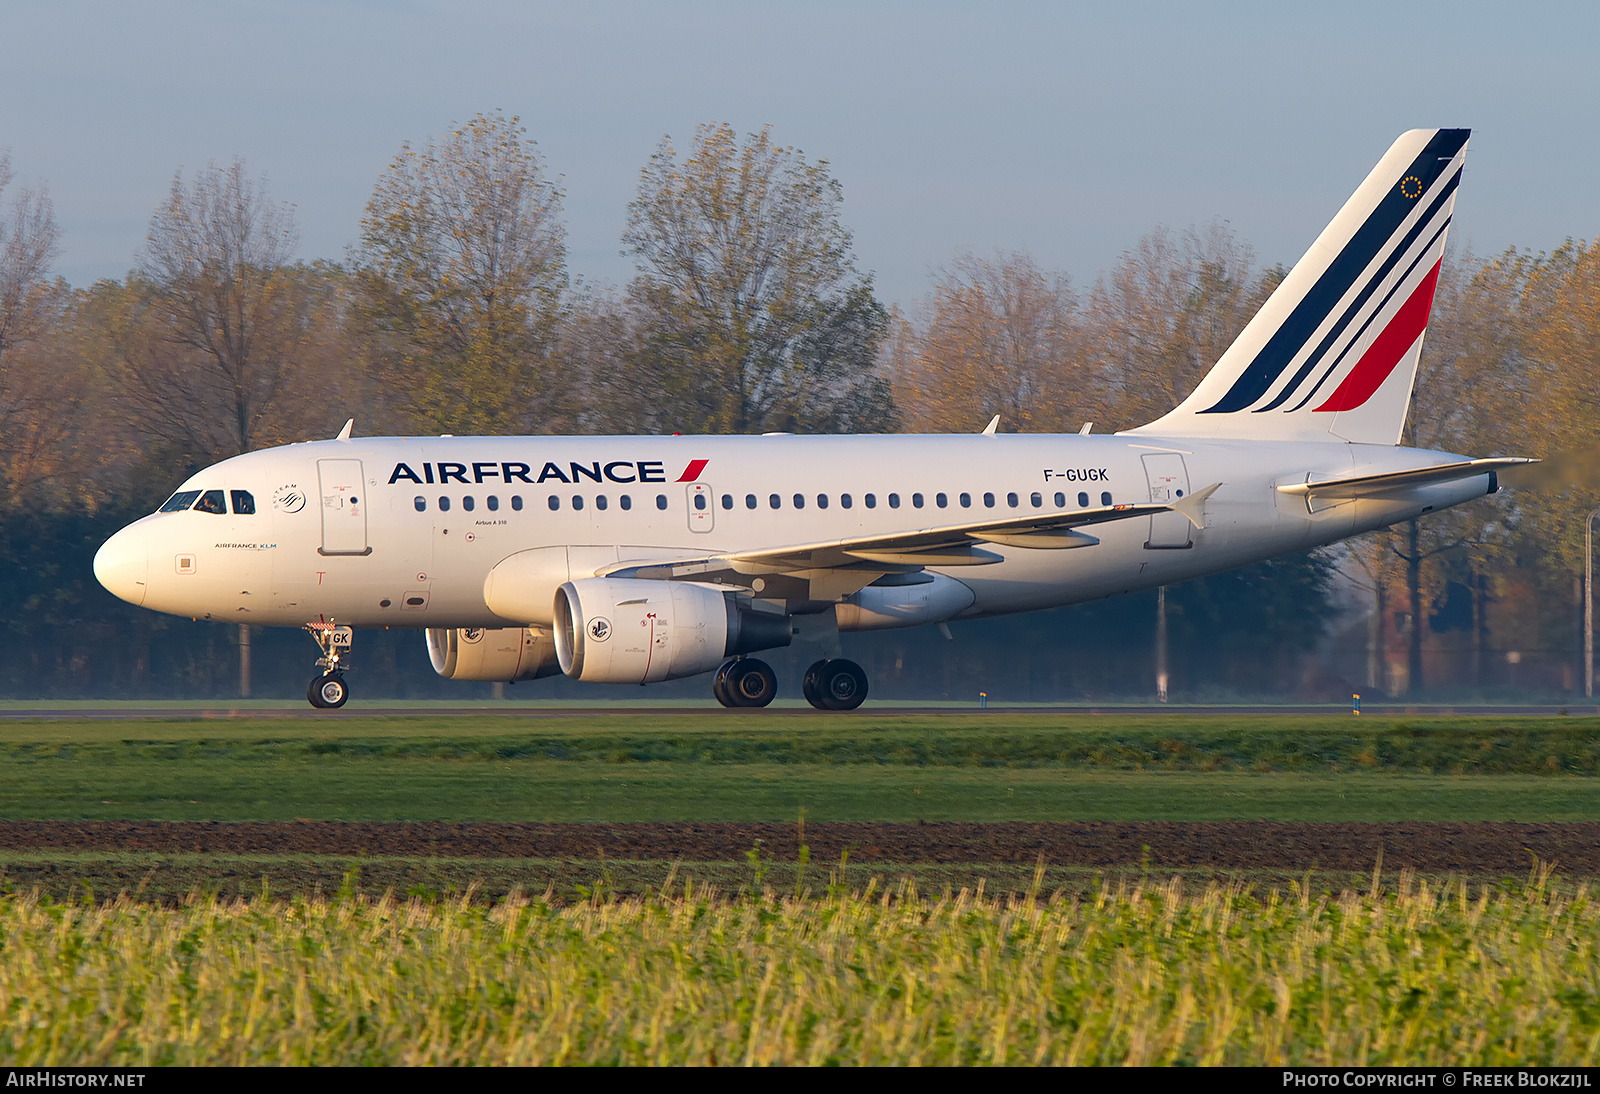
[[[1389,176],[1365,221],[1202,414],[1349,411],[1382,387],[1427,328],[1467,134],[1435,131],[1398,179]],[[1280,291],[1290,288],[1286,280]]]

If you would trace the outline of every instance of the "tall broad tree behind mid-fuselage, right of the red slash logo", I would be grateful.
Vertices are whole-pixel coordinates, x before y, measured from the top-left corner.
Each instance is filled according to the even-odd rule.
[[[682,163],[662,139],[622,243],[640,269],[638,360],[674,429],[893,429],[875,368],[888,313],[854,270],[842,202],[827,162],[770,130],[741,146],[731,126],[702,125]]]

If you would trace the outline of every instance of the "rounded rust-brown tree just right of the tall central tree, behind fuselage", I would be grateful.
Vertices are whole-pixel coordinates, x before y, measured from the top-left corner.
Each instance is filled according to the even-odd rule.
[[[1030,254],[957,258],[934,285],[926,334],[894,368],[907,424],[968,432],[1000,414],[1003,429],[1066,432],[1093,419],[1102,400],[1075,307],[1066,275]]]

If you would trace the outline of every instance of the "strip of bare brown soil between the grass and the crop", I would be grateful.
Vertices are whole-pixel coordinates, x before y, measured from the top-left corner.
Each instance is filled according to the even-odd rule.
[[[1581,824],[806,824],[811,862],[1208,867],[1522,873],[1536,859],[1600,876],[1600,822]],[[794,862],[795,824],[448,824],[6,820],[0,851],[410,859]],[[40,856],[46,857],[46,856]]]

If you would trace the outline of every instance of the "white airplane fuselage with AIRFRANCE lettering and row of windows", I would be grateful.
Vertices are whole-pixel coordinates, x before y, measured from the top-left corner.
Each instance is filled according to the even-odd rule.
[[[907,616],[915,625],[1213,574],[1486,493],[1488,475],[1315,505],[1275,489],[1458,459],[1146,435],[331,440],[208,467],[182,489],[243,491],[254,512],[154,513],[107,542],[96,568],[125,600],[198,619],[506,627],[530,621],[494,614],[485,579],[530,549],[584,547],[573,558],[598,568],[1160,502],[1221,483],[1202,529],[1160,513],[1096,525],[1099,542],[1074,550],[986,545],[1003,561],[942,571],[970,601]],[[843,613],[840,624],[851,629]]]

